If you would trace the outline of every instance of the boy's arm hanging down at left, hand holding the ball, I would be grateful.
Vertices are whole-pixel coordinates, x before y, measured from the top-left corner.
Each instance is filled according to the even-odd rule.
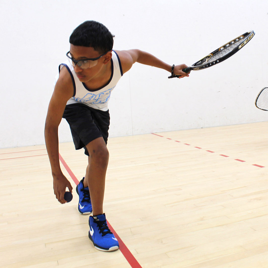
[[[60,203],[65,203],[64,193],[66,187],[72,191],[70,182],[66,179],[59,165],[58,126],[66,106],[66,102],[73,95],[72,80],[66,68],[62,68],[59,79],[55,85],[50,99],[45,124],[45,141],[51,172],[53,176],[54,194]]]

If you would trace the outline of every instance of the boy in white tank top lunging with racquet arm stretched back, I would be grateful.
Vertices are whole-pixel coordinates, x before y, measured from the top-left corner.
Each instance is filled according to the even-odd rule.
[[[63,175],[59,165],[58,126],[61,118],[70,125],[76,150],[84,147],[88,156],[85,177],[76,187],[79,195],[78,210],[90,214],[89,238],[95,248],[113,251],[119,248],[118,241],[109,230],[103,213],[105,175],[109,152],[107,138],[109,111],[107,103],[111,91],[120,77],[135,62],[151,65],[181,75],[187,65],[168,65],[153,55],[138,49],[113,50],[113,36],[96,21],[85,21],[70,36],[69,60],[59,66],[53,95],[45,125],[45,140],[56,198],[64,204],[66,187],[72,186]]]

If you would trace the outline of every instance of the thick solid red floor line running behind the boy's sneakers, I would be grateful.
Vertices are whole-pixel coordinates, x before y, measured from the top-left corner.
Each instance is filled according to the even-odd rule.
[[[79,181],[77,180],[75,174],[73,174],[72,170],[69,168],[69,166],[66,164],[66,162],[64,161],[64,159],[62,158],[62,156],[60,154],[59,154],[59,160],[62,162],[62,164],[64,165],[65,169],[67,170],[67,172],[69,173],[69,175],[71,176],[73,181],[75,182],[75,184],[76,185],[79,184]],[[114,236],[116,237],[116,239],[118,240],[119,250],[122,252],[122,254],[124,255],[125,259],[130,264],[130,266],[132,268],[142,268],[142,266],[140,266],[140,264],[134,258],[132,253],[129,251],[129,249],[126,247],[126,245],[121,240],[121,238],[117,235],[116,231],[113,229],[113,227],[110,225],[110,223],[108,221],[107,221],[107,225],[110,228],[110,230],[112,231],[112,233],[114,234]]]

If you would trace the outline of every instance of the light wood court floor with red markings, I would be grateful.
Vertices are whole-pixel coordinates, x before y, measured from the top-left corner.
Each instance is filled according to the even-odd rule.
[[[260,122],[108,140],[104,211],[143,268],[268,267],[267,129]],[[44,149],[0,150],[0,267],[131,267],[121,251],[93,247],[63,166],[74,197],[55,199]],[[60,154],[81,180],[83,151],[61,143]]]

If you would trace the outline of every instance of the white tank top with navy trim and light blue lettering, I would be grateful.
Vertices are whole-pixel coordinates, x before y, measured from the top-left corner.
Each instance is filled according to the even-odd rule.
[[[123,75],[121,62],[117,53],[114,50],[112,51],[110,80],[106,85],[96,90],[89,90],[83,82],[79,81],[69,61],[59,65],[59,72],[63,66],[68,69],[72,77],[74,88],[73,97],[68,100],[67,105],[72,103],[84,103],[94,109],[107,111],[111,91],[115,88],[117,82]],[[58,78],[59,75],[55,77],[55,84]]]

